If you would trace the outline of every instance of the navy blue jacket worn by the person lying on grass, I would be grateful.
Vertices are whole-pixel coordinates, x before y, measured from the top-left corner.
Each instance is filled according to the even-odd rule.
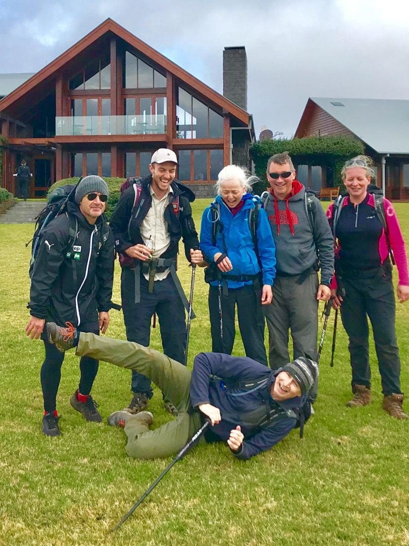
[[[232,357],[222,353],[200,353],[195,357],[190,384],[193,407],[210,403],[218,407],[221,422],[210,430],[220,440],[227,441],[230,431],[240,425],[244,434],[242,448],[232,452],[239,459],[250,459],[272,448],[287,436],[297,423],[293,408],[303,406],[306,395],[296,396],[283,402],[275,402],[270,387],[277,372],[248,357]],[[215,376],[215,377],[212,377]],[[265,379],[262,388],[246,390],[234,384],[246,380]],[[273,420],[272,424],[255,431],[255,425],[267,411],[278,404],[287,416]]]

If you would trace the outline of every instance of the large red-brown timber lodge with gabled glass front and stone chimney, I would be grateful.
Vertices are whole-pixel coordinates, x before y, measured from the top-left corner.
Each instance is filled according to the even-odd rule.
[[[31,197],[71,176],[145,176],[167,147],[178,179],[213,195],[224,165],[250,167],[255,139],[245,49],[225,48],[223,65],[221,95],[107,19],[0,100],[2,186],[15,193],[21,159]]]

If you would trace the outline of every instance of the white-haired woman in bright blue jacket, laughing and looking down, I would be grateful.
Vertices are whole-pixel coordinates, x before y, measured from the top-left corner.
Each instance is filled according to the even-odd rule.
[[[210,264],[204,278],[212,351],[231,354],[237,305],[246,356],[267,365],[261,306],[273,299],[275,245],[260,198],[249,193],[256,180],[237,165],[220,171],[216,198],[203,212],[200,248]]]

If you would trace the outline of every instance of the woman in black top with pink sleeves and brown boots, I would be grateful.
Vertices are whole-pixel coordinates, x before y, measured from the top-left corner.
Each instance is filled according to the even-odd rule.
[[[370,185],[371,159],[357,156],[347,161],[342,177],[348,192],[328,208],[335,239],[333,305],[340,308],[349,338],[352,367],[352,400],[348,407],[371,401],[368,317],[374,332],[382,379],[382,408],[396,419],[408,419],[402,409],[399,348],[395,333],[395,296],[392,284],[394,257],[398,269],[398,299],[409,299],[409,272],[405,241],[395,210]],[[374,193],[370,193],[374,192]]]

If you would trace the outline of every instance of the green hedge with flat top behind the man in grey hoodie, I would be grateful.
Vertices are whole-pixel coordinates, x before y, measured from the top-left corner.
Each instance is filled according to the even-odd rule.
[[[293,139],[260,140],[250,148],[256,175],[260,178],[254,186],[255,193],[261,193],[268,185],[266,167],[268,158],[275,153],[288,152],[296,165],[321,165],[334,171],[334,185],[341,186],[341,168],[344,162],[361,153],[364,145],[348,136],[305,136]]]

